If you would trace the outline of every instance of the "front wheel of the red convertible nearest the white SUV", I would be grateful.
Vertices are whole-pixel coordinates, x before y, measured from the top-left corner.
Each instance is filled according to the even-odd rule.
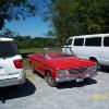
[[[52,87],[57,86],[57,83],[52,78],[50,72],[47,72],[45,80],[46,80],[46,82],[48,83],[49,86],[52,86]]]

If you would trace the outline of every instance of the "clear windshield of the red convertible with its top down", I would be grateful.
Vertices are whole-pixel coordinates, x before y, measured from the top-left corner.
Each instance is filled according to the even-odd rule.
[[[71,50],[71,53],[68,55],[66,52],[63,52],[61,48],[44,48],[44,57],[45,58],[61,58],[61,57],[74,57],[73,51]]]

